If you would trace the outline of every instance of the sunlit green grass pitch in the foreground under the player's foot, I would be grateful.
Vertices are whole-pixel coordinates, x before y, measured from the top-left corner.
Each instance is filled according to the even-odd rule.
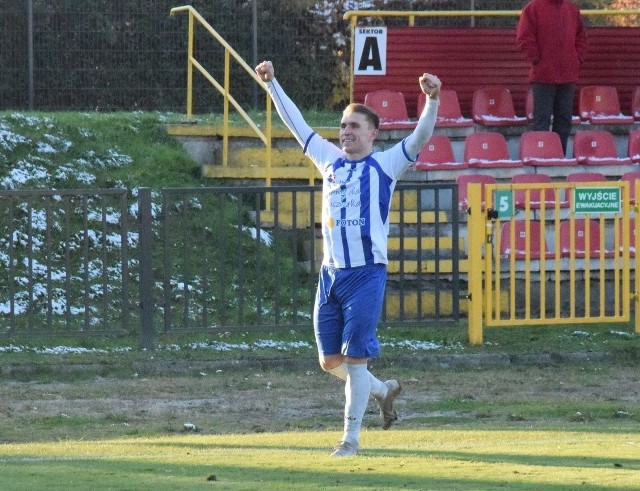
[[[0,446],[1,488],[70,490],[638,489],[637,426],[262,433]]]

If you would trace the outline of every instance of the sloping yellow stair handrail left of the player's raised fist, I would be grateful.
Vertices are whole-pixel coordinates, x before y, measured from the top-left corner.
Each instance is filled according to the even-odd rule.
[[[216,30],[191,6],[185,5],[183,7],[175,7],[171,9],[171,15],[180,13],[189,14],[189,33],[188,33],[188,47],[187,47],[187,118],[191,119],[193,115],[193,69],[197,69],[211,85],[213,85],[224,98],[223,103],[223,129],[222,129],[222,165],[226,166],[229,162],[229,104],[231,104],[236,111],[247,122],[251,129],[258,135],[260,140],[266,147],[266,185],[271,186],[271,148],[272,148],[272,125],[271,125],[271,98],[267,97],[266,108],[266,125],[263,132],[257,124],[253,122],[251,117],[246,113],[240,104],[230,93],[231,87],[231,58],[233,58],[244,69],[245,72],[253,78],[260,87],[266,92],[264,84],[260,78],[256,75],[254,69],[250,67],[242,57],[227,43]],[[199,62],[195,59],[193,54],[193,37],[195,32],[196,21],[204,27],[213,38],[216,39],[224,47],[224,81],[220,84]],[[267,203],[267,209],[269,209],[269,203]]]

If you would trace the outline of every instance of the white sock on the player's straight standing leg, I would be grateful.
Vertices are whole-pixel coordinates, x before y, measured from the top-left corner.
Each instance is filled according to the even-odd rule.
[[[344,405],[344,435],[342,440],[358,444],[360,440],[360,427],[362,418],[369,403],[371,381],[367,365],[346,364],[349,376],[344,386],[346,402]]]

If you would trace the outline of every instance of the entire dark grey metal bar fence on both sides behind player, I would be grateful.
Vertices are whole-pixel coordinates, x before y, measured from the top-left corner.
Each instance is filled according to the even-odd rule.
[[[174,333],[309,326],[320,192],[2,191],[0,337],[139,333],[152,348]],[[456,195],[454,185],[398,186],[400,209],[417,209],[394,212],[401,246],[390,251],[385,325],[458,319],[458,250],[447,245],[459,242]],[[429,250],[409,246],[424,237]]]

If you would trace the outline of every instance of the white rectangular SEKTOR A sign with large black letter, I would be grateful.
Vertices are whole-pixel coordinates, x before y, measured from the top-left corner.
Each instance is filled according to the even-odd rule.
[[[387,28],[356,27],[354,75],[385,75],[387,72]]]

